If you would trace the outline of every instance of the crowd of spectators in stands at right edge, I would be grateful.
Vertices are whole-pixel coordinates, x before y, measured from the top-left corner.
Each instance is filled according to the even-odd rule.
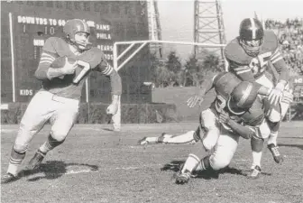
[[[265,21],[265,29],[271,29],[279,37],[284,60],[294,75],[303,75],[303,19]]]

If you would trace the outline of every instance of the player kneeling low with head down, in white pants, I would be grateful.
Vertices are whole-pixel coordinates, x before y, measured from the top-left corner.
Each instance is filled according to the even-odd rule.
[[[262,97],[258,94],[269,95],[271,89],[241,81],[230,72],[216,75],[209,86],[215,87],[217,97],[202,111],[195,133],[195,140],[201,140],[205,153],[202,159],[193,153],[188,155],[177,175],[177,184],[187,183],[193,171],[225,168],[234,156],[240,136],[262,140],[270,134]],[[212,149],[214,151],[207,155]]]

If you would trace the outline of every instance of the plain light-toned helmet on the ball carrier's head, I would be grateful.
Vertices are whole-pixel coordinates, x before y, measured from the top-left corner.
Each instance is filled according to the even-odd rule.
[[[78,48],[80,51],[89,50],[91,48],[91,43],[88,42],[90,30],[87,23],[80,19],[72,19],[69,20],[67,23],[65,23],[63,27],[63,32],[65,34],[67,42],[69,44],[74,45]],[[87,40],[86,41],[77,41],[75,39],[75,35],[78,32],[84,32],[87,33]]]

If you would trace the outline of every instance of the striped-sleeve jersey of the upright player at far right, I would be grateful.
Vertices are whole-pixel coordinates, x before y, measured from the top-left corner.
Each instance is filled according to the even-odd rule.
[[[280,73],[280,79],[288,81],[289,73],[278,47],[278,39],[274,32],[265,31],[261,51],[256,57],[249,56],[237,37],[225,47],[225,58],[229,63],[229,71],[234,72],[245,81],[260,78],[268,69],[268,63]]]

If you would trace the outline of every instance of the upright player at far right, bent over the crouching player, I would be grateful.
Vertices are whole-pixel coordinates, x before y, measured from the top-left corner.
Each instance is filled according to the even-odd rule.
[[[239,36],[226,45],[225,58],[229,63],[229,71],[238,78],[273,88],[266,102],[266,105],[270,106],[266,118],[271,127],[267,146],[274,161],[281,163],[283,159],[277,145],[277,137],[280,122],[287,113],[292,96],[288,84],[289,69],[280,53],[277,36],[272,31],[264,31],[259,20],[246,18],[240,24]],[[273,82],[274,77],[265,74],[266,70],[272,70],[271,67],[279,74],[276,85]],[[289,99],[282,100],[283,92],[287,93],[284,90],[289,91]],[[261,159],[262,151],[253,152],[253,157],[254,160]],[[253,165],[252,168],[254,167],[258,166]]]

